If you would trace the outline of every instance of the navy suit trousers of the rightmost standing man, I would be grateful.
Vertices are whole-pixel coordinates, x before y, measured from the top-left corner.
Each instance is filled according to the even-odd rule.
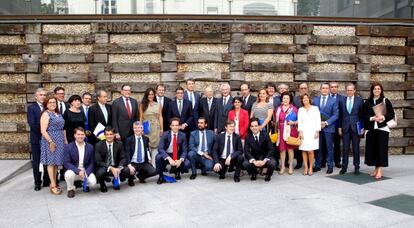
[[[347,169],[348,168],[348,161],[349,161],[349,145],[352,143],[352,155],[354,156],[354,167],[355,169],[359,169],[359,135],[355,132],[353,132],[351,129],[349,129],[348,132],[342,133],[343,141],[343,154],[342,154],[342,168]]]

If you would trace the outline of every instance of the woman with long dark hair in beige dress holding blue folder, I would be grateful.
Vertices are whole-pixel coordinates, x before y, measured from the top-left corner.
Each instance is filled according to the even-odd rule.
[[[163,132],[162,107],[157,103],[155,90],[148,88],[139,105],[140,121],[144,125],[144,134],[149,138],[151,148],[151,162],[155,166],[155,155],[157,154],[160,135]]]

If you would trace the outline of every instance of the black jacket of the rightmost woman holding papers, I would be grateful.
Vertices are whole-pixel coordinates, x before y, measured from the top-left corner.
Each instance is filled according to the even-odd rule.
[[[384,97],[380,97],[376,104],[379,104],[383,101]],[[364,128],[365,130],[374,130],[374,123],[375,121],[370,121],[369,119],[372,116],[375,116],[374,110],[372,107],[374,107],[374,99],[369,98],[365,101],[363,106],[363,118],[364,118]],[[395,116],[394,108],[392,107],[391,102],[388,99],[385,99],[385,106],[387,107],[387,113],[384,115],[385,120],[381,123],[377,123],[378,128],[382,128],[387,126],[387,122],[392,120]]]

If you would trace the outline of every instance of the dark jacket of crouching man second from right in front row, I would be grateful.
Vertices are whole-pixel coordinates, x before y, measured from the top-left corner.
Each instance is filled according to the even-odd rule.
[[[233,133],[232,136],[232,143],[233,143],[233,153],[231,154],[231,158],[237,158],[240,155],[243,155],[243,147],[241,143],[240,136],[236,133]],[[213,160],[214,163],[218,163],[221,155],[224,150],[224,145],[226,144],[226,133],[222,133],[216,136],[216,141],[214,142],[213,148]]]

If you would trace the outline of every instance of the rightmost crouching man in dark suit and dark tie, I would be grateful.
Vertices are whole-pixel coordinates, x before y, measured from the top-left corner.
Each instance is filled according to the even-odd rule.
[[[244,156],[246,160],[243,167],[251,175],[251,180],[256,180],[257,169],[266,168],[265,181],[270,181],[276,166],[274,149],[269,135],[259,130],[259,119],[250,119],[250,130],[244,143]]]

